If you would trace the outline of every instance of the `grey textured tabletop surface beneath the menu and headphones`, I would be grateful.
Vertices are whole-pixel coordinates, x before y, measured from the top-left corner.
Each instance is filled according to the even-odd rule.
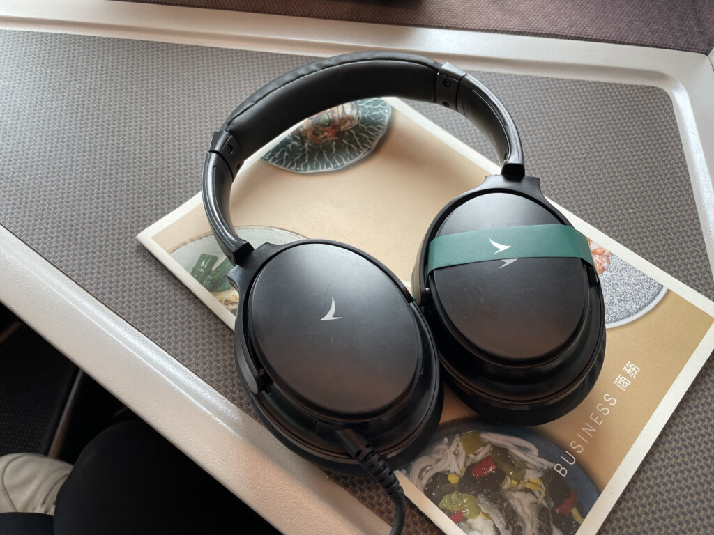
[[[0,31],[0,224],[246,412],[232,333],[135,240],[199,189],[211,132],[309,58]],[[240,73],[240,76],[235,76]],[[650,86],[477,73],[518,124],[545,194],[714,297],[672,103]],[[216,83],[231,80],[232,84]],[[460,117],[414,105],[478,151]],[[714,367],[705,365],[603,525],[714,528]],[[343,486],[388,516],[362,480]],[[413,508],[405,531],[437,533]]]

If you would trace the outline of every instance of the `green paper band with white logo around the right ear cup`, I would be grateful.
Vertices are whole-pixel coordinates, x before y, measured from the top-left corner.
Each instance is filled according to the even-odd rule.
[[[429,244],[428,271],[512,258],[582,258],[593,265],[588,238],[568,225],[490,228],[438,236]]]

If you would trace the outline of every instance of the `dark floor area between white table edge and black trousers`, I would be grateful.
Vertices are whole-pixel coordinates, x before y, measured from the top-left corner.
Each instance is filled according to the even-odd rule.
[[[111,424],[138,419],[0,304],[0,455],[73,463]]]

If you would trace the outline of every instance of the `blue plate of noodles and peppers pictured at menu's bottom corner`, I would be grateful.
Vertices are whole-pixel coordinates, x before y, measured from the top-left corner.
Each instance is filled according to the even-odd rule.
[[[598,499],[572,457],[531,429],[465,419],[435,437],[405,473],[468,535],[573,535]]]

